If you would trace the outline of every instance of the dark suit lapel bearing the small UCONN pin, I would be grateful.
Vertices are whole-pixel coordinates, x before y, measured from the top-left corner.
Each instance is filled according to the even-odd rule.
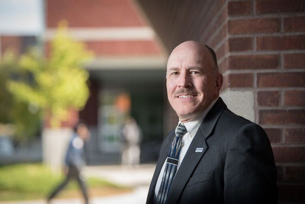
[[[201,160],[201,158],[207,151],[208,144],[206,143],[206,139],[211,135],[219,116],[225,108],[226,105],[224,104],[222,99],[219,98],[214,104],[213,108],[204,118],[175,175],[175,179],[172,183],[167,198],[167,203],[177,203],[183,189],[185,188],[187,181],[195,170],[198,162]],[[202,152],[201,150],[196,152],[197,148],[203,148]]]

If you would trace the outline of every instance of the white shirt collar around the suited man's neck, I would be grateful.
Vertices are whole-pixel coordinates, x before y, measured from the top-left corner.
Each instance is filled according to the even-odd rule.
[[[186,130],[188,131],[188,136],[190,136],[191,138],[195,136],[200,124],[202,123],[203,119],[206,117],[207,113],[209,113],[210,109],[214,106],[214,104],[216,103],[216,101],[218,100],[219,97],[217,97],[215,100],[213,100],[210,105],[201,113],[199,114],[198,117],[196,117],[194,120],[192,121],[188,121],[185,123],[181,123],[180,119],[178,122],[178,125],[176,127],[176,131],[177,128],[180,124],[184,124]]]

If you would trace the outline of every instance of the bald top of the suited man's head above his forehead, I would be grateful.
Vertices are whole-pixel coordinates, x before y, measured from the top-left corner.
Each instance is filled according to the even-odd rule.
[[[213,75],[219,73],[217,66],[217,58],[214,50],[207,45],[199,43],[197,41],[185,41],[179,44],[170,54],[168,62],[175,58],[177,55],[180,57],[185,57],[183,54],[185,53],[195,53],[196,58],[194,60],[200,61],[204,65],[211,68],[211,72]],[[169,64],[167,64],[167,69]]]

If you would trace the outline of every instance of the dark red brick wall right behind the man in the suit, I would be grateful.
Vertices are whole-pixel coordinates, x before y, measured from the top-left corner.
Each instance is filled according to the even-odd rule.
[[[227,1],[201,38],[215,49],[224,86],[255,95],[255,122],[278,168],[279,202],[305,202],[305,1]],[[209,28],[209,27],[207,27]]]

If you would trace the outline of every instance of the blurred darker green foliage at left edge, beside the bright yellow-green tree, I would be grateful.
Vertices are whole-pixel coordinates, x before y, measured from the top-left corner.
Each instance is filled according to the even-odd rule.
[[[30,80],[28,74],[20,69],[13,50],[7,50],[0,61],[0,123],[14,124],[14,139],[22,143],[37,135],[40,111],[28,102],[15,100],[6,89],[7,82],[16,77]]]

